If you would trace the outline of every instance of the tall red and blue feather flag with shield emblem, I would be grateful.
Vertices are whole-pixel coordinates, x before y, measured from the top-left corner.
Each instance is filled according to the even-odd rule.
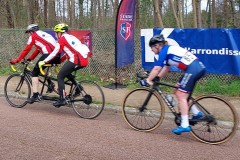
[[[134,62],[134,14],[136,0],[122,0],[117,13],[115,30],[115,67]]]

